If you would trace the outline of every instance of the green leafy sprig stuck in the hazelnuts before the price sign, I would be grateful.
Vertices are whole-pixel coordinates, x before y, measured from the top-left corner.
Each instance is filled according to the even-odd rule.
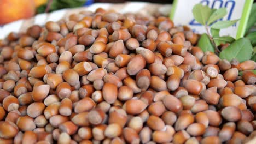
[[[201,23],[206,29],[206,33],[201,35],[197,43],[203,52],[211,51],[219,53],[220,58],[229,61],[236,59],[237,61],[243,62],[252,57],[253,47],[250,40],[252,43],[255,43],[254,38],[256,33],[248,35],[247,38],[249,40],[247,38],[235,40],[228,35],[219,35],[221,29],[230,27],[238,21],[219,21],[219,19],[222,19],[227,14],[225,8],[211,9],[208,6],[196,4],[192,12],[195,20]],[[229,43],[230,45],[220,52],[218,46],[225,43]]]

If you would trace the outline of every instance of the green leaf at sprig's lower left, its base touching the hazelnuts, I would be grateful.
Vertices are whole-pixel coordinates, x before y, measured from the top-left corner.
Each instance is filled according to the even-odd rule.
[[[214,47],[207,34],[202,34],[201,38],[198,41],[198,47],[200,47],[203,52],[214,52]]]

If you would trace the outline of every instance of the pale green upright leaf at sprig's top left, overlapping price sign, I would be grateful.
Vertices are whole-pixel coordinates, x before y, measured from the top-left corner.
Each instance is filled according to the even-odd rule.
[[[202,4],[196,4],[192,9],[192,13],[197,22],[205,25],[211,16],[212,9],[208,6],[203,6]]]

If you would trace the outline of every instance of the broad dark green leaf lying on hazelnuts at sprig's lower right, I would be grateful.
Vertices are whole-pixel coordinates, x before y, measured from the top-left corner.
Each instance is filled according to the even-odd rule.
[[[246,38],[240,38],[219,53],[221,59],[237,59],[239,62],[247,61],[251,58],[253,52],[250,41]]]

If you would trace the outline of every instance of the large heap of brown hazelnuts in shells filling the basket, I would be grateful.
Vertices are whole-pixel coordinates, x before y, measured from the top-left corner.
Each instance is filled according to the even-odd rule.
[[[101,8],[10,33],[0,40],[0,143],[248,141],[256,63],[204,53],[198,38],[167,17]]]

